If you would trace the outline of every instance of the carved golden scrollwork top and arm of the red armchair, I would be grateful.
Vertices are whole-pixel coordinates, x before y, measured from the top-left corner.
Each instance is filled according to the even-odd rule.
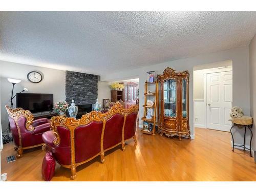
[[[17,120],[19,117],[25,117],[26,118],[26,129],[28,131],[34,131],[35,127],[32,126],[34,116],[30,111],[24,110],[22,108],[11,109],[8,105],[5,105],[5,108],[6,108],[8,115],[14,120]]]

